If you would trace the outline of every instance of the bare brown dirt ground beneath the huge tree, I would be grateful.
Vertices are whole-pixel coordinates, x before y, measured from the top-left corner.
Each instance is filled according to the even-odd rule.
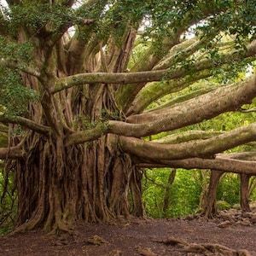
[[[250,221],[252,216],[234,216],[223,214],[209,221],[189,216],[81,224],[75,227],[73,236],[45,236],[42,231],[33,230],[0,237],[0,255],[256,255],[256,224]]]

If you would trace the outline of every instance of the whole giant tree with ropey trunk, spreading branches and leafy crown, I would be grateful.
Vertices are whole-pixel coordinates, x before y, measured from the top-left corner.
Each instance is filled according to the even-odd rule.
[[[143,167],[255,174],[253,148],[227,150],[255,142],[256,123],[196,128],[254,111],[255,17],[253,0],[2,3],[0,158],[17,224],[142,216]]]

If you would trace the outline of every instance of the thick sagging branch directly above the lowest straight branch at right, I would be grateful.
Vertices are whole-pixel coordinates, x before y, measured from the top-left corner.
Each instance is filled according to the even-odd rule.
[[[127,153],[142,159],[181,160],[191,157],[211,157],[224,150],[235,148],[256,139],[256,123],[228,131],[206,140],[189,143],[159,144],[135,137],[120,137],[120,145]]]

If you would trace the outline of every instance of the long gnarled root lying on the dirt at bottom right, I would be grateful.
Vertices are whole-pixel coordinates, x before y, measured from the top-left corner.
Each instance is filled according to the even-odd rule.
[[[166,240],[158,241],[168,246],[181,247],[187,253],[202,253],[203,255],[225,255],[225,256],[252,256],[250,252],[245,249],[233,250],[229,247],[224,247],[215,243],[189,243],[183,239],[176,237],[169,237]]]

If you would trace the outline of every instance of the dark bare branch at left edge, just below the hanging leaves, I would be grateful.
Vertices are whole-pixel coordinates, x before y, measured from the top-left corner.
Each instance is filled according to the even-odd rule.
[[[32,131],[37,131],[38,133],[44,134],[44,135],[47,135],[50,131],[48,126],[39,125],[30,119],[26,119],[26,118],[23,118],[20,116],[6,117],[3,115],[0,115],[0,122],[2,122],[4,124],[8,124],[8,123],[18,124],[18,125],[28,128]]]

